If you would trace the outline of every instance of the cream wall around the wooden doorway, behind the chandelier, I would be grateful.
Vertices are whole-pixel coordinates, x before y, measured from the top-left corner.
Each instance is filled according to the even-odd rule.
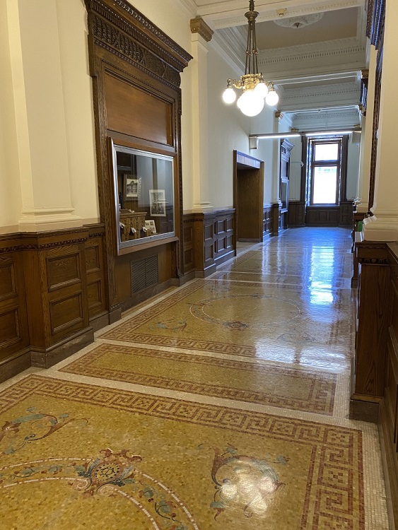
[[[239,77],[211,45],[208,64],[209,114],[209,191],[213,208],[233,206],[233,151],[240,151],[264,160],[264,202],[271,201],[272,148],[259,142],[259,148],[249,149],[249,134],[271,132],[273,110],[270,107],[256,117],[246,117],[236,103],[226,105],[222,100],[228,78]]]

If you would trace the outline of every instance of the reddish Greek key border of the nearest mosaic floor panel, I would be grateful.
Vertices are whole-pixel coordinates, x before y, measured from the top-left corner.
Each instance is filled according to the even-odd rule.
[[[1,411],[31,396],[68,399],[76,403],[138,413],[163,420],[240,432],[262,439],[293,442],[312,449],[301,529],[364,530],[363,452],[360,430],[296,418],[198,404],[163,396],[96,387],[95,385],[28,375],[0,393]],[[317,458],[316,458],[317,457]],[[317,462],[320,459],[320,462]],[[343,480],[341,480],[341,478]],[[354,503],[358,504],[358,510]]]

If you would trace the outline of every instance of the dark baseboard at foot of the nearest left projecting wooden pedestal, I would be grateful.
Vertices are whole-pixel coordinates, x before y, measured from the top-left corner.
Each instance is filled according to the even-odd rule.
[[[67,359],[82,348],[86,348],[88,344],[93,342],[94,331],[92,327],[89,327],[51,348],[46,348],[45,350],[32,348],[30,351],[32,366],[49,368]]]

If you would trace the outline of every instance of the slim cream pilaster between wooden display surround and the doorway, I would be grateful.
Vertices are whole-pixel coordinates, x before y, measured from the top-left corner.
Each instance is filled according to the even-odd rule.
[[[213,208],[209,193],[209,136],[207,119],[207,46],[199,33],[192,33],[192,177],[194,211]]]

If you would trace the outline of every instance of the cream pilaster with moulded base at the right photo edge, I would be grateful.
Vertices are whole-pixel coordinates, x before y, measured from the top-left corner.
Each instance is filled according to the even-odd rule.
[[[365,240],[398,240],[398,178],[397,178],[397,28],[398,2],[387,1],[380,95],[380,122],[377,139],[375,200],[373,217],[365,219]]]

